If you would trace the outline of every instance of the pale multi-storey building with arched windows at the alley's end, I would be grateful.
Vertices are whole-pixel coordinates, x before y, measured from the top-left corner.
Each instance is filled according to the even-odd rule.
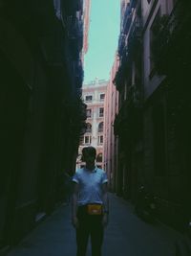
[[[81,151],[86,146],[96,148],[96,165],[103,168],[104,143],[104,99],[108,81],[95,80],[82,87],[82,97],[86,108],[86,129],[80,139],[76,168],[84,166],[80,160]]]

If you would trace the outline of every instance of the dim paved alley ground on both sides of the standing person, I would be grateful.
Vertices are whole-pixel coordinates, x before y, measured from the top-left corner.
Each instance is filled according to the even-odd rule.
[[[175,256],[179,233],[159,223],[140,221],[128,202],[111,194],[110,209],[103,256]],[[71,206],[59,206],[8,256],[74,256],[75,233],[70,217]],[[87,256],[91,256],[90,245]]]

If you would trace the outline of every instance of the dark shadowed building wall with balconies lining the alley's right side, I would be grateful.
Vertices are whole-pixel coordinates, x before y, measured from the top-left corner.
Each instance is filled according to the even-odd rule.
[[[190,37],[186,33],[191,19],[186,12],[189,5],[165,0],[132,0],[127,6],[122,4],[120,61],[115,78],[119,93],[115,119],[118,195],[124,198],[126,195],[134,202],[138,186],[144,185],[157,197],[157,218],[179,229],[185,228],[190,216],[186,203],[189,175],[185,171],[190,163],[187,156],[182,160],[182,155],[189,155],[183,138],[187,134],[190,141],[190,135],[180,125],[189,127],[185,114],[190,109],[188,87],[181,82],[189,73]],[[132,32],[137,14],[141,18],[139,35],[136,29]],[[133,45],[137,45],[136,51]],[[140,76],[135,76],[136,73]],[[139,84],[136,95],[138,92],[140,98],[134,95],[130,104],[129,89],[134,82]],[[180,147],[183,141],[184,147]],[[123,186],[126,193],[120,189]]]

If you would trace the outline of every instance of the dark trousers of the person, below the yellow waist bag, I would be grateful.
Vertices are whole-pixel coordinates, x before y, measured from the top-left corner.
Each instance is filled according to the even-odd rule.
[[[77,218],[79,227],[76,228],[77,256],[85,256],[88,239],[91,237],[92,256],[101,256],[103,243],[103,226],[101,215],[88,215],[86,206],[78,207]]]

